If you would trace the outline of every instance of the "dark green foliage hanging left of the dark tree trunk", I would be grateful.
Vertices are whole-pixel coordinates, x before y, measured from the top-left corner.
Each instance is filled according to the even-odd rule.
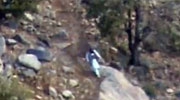
[[[97,26],[103,37],[113,37],[119,32],[124,21],[122,0],[92,0],[88,10],[88,17],[99,18]]]

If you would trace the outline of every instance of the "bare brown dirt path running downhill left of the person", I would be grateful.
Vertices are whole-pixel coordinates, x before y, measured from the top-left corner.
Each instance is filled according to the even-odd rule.
[[[96,76],[88,69],[88,66],[84,61],[82,61],[79,54],[84,56],[82,51],[85,51],[87,47],[86,43],[84,45],[79,45],[78,41],[81,39],[81,35],[86,29],[86,26],[81,25],[81,18],[74,12],[71,12],[73,6],[71,0],[54,0],[52,1],[52,7],[57,11],[57,19],[62,22],[62,27],[68,31],[71,37],[71,42],[74,45],[62,49],[60,48],[64,43],[55,42],[52,48],[52,52],[56,55],[56,60],[53,62],[53,65],[46,65],[49,69],[54,69],[57,71],[58,76],[50,79],[50,83],[45,84],[43,80],[47,81],[48,79],[42,79],[39,84],[44,84],[44,88],[47,85],[51,85],[55,87],[58,92],[62,92],[63,90],[70,90],[75,95],[76,100],[97,100],[99,95],[99,83],[100,79],[97,79]],[[53,42],[53,40],[52,40]],[[67,42],[68,43],[68,42]],[[59,45],[59,47],[58,47]],[[80,47],[80,48],[79,48]],[[82,62],[81,64],[79,62]],[[63,72],[63,67],[67,66],[74,70],[73,74],[68,74]],[[43,71],[42,71],[43,73]],[[77,79],[79,81],[79,86],[77,88],[72,88],[65,82],[69,79]],[[62,85],[59,85],[62,84]],[[46,90],[46,89],[45,89]],[[43,95],[43,94],[41,94]],[[46,95],[46,94],[45,94]]]

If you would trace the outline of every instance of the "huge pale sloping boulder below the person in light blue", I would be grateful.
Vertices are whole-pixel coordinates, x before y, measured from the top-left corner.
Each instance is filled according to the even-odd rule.
[[[102,66],[101,74],[105,79],[100,84],[99,100],[149,100],[145,92],[133,86],[122,72]]]

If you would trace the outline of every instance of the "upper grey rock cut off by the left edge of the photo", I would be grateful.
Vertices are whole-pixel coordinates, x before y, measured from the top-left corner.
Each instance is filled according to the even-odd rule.
[[[3,36],[0,36],[0,57],[6,52],[6,41]]]

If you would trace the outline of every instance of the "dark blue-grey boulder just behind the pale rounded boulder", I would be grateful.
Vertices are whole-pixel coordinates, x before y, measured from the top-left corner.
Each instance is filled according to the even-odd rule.
[[[52,60],[51,52],[43,47],[41,49],[28,49],[26,53],[35,55],[40,61],[50,62]]]

